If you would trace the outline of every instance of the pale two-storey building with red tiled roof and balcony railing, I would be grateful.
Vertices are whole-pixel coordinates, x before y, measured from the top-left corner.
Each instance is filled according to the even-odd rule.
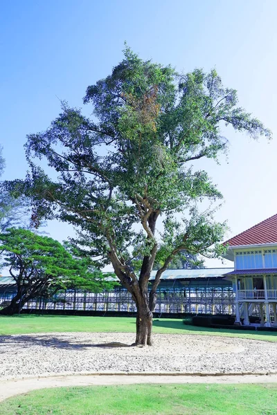
[[[224,245],[234,261],[226,277],[233,282],[236,324],[277,326],[277,214]]]

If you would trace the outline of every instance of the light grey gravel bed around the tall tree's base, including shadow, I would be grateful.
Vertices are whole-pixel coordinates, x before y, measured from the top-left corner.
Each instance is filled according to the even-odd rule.
[[[114,343],[118,342],[118,343]],[[0,337],[0,378],[54,374],[277,372],[277,343],[201,335],[154,335],[130,347],[131,333],[45,333]]]

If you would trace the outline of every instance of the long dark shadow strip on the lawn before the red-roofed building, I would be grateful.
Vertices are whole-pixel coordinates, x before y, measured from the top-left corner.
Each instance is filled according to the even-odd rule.
[[[201,333],[226,333],[226,334],[232,334],[232,335],[241,335],[241,334],[251,334],[251,335],[259,335],[259,336],[277,336],[277,333],[271,332],[271,331],[254,331],[254,330],[238,330],[238,329],[215,329],[212,327],[198,327],[198,326],[190,326],[188,324],[184,324],[180,320],[153,320],[153,326],[155,327],[164,327],[166,329],[177,329],[182,331],[182,334],[190,334],[189,332],[201,332]],[[181,334],[181,333],[180,333]]]

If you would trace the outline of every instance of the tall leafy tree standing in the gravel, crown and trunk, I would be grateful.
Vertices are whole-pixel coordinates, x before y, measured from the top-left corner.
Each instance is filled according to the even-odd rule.
[[[150,345],[157,286],[172,259],[184,250],[220,255],[225,224],[196,206],[222,195],[196,163],[226,151],[224,124],[252,138],[271,133],[238,107],[215,70],[179,75],[129,48],[111,75],[87,88],[84,104],[93,118],[64,103],[46,131],[28,136],[30,172],[10,186],[33,199],[37,222],[75,225],[84,253],[99,267],[112,264],[136,302],[136,344]],[[161,266],[148,291],[155,261]]]

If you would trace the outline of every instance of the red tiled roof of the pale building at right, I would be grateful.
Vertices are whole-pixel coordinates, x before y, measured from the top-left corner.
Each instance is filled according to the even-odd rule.
[[[252,228],[244,230],[236,237],[224,242],[224,245],[260,245],[262,243],[275,242],[277,243],[277,214],[252,226]]]

